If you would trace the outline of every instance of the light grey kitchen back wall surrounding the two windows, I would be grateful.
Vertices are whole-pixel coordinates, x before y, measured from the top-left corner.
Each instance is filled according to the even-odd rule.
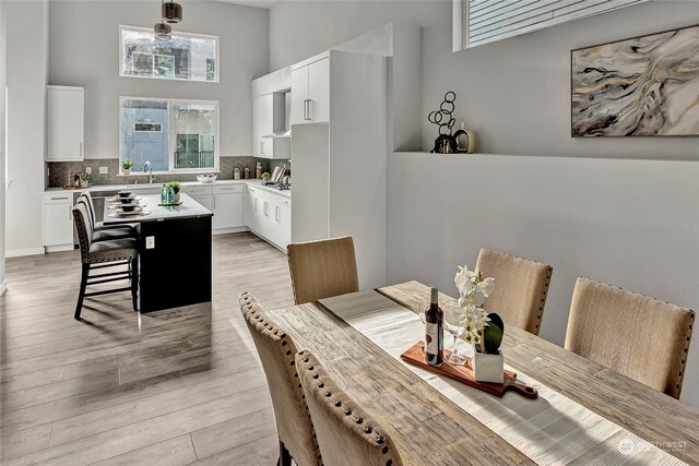
[[[220,100],[221,155],[251,155],[250,81],[268,72],[268,11],[181,4],[183,21],[174,31],[220,38],[220,83],[119,77],[119,25],[153,27],[159,1],[50,2],[49,82],[85,87],[86,158],[119,156],[119,96]]]

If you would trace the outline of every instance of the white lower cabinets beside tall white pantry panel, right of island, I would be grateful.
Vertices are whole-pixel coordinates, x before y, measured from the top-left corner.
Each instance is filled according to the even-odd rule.
[[[284,194],[248,186],[245,225],[282,250],[292,240],[292,200]]]

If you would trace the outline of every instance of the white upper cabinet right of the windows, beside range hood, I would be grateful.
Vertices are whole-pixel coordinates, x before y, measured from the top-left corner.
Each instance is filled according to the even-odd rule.
[[[289,158],[288,138],[284,132],[285,95],[273,93],[252,99],[252,155],[263,158]]]

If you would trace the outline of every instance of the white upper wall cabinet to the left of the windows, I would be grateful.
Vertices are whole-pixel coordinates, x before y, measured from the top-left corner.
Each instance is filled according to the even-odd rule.
[[[82,87],[47,87],[48,162],[84,160],[85,91]]]

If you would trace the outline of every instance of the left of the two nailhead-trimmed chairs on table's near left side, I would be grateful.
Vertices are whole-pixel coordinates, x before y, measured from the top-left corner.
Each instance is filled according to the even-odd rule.
[[[321,465],[313,423],[298,381],[292,337],[274,323],[249,292],[239,296],[240,311],[258,349],[270,387],[276,433],[280,440],[277,465]]]

